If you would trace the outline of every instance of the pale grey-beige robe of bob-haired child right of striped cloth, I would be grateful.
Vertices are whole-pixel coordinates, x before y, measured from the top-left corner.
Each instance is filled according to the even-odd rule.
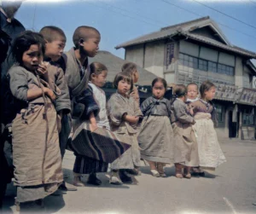
[[[131,116],[143,115],[132,97],[123,96],[119,93],[113,94],[108,101],[108,117],[111,130],[117,133],[123,142],[130,144],[131,147],[119,159],[113,161],[112,170],[134,169],[134,166],[140,166],[137,124],[130,124],[123,120],[125,114]]]

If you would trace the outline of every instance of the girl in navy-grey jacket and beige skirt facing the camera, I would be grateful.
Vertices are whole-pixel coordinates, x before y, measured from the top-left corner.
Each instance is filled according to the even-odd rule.
[[[166,93],[166,80],[154,78],[153,96],[143,101],[143,123],[138,136],[141,156],[148,161],[153,176],[166,177],[164,165],[173,159],[173,131],[171,125],[171,103],[163,96]]]

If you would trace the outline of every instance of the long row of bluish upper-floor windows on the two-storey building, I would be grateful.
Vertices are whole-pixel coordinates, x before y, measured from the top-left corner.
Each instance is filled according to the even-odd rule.
[[[185,67],[193,67],[205,72],[218,72],[221,74],[226,74],[230,76],[235,75],[235,68],[220,64],[214,61],[206,61],[201,58],[185,55],[183,53],[179,54],[179,63]]]

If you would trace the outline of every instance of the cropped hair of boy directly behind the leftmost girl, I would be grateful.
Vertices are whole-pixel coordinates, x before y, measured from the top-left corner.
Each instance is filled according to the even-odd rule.
[[[58,38],[61,38],[61,41],[64,43],[67,41],[65,33],[57,26],[44,26],[39,33],[49,43],[54,42]]]

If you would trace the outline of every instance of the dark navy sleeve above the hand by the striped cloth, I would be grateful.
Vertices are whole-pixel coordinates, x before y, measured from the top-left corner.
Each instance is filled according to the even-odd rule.
[[[90,88],[84,90],[82,95],[76,97],[76,102],[84,104],[84,112],[81,115],[81,119],[89,119],[90,113],[94,113],[96,116],[100,112],[100,107],[98,107],[94,100]]]

